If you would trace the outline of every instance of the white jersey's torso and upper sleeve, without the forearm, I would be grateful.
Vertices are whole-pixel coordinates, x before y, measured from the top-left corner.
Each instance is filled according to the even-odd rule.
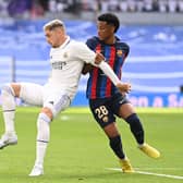
[[[94,64],[95,57],[95,52],[84,42],[71,40],[68,37],[63,45],[50,50],[51,75],[48,85],[58,90],[65,90],[73,99],[84,62]]]

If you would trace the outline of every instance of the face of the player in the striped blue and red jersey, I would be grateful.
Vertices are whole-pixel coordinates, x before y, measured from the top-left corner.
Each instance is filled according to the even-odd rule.
[[[98,37],[102,41],[107,41],[114,34],[114,26],[107,24],[107,22],[98,21],[97,22]]]

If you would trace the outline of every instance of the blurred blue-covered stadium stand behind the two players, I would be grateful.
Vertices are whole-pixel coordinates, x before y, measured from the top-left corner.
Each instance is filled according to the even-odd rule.
[[[36,4],[40,5],[38,1]],[[34,14],[34,16],[29,14],[20,19],[17,15],[12,17],[9,13],[0,16],[7,17],[7,21],[0,21],[0,85],[11,81],[39,84],[47,81],[49,46],[44,37],[42,25],[48,19],[62,17],[68,26],[68,34],[74,39],[85,41],[96,35],[96,25],[93,22],[96,14],[94,10],[88,10],[86,4],[84,11],[80,13],[50,12],[48,2],[41,7],[44,5],[44,13]],[[134,106],[141,107],[183,107],[180,89],[183,85],[181,22],[183,14],[180,11],[176,13],[119,11],[122,26],[118,35],[131,47],[131,53],[123,70],[123,81],[130,81],[133,85],[130,94],[131,101]],[[176,17],[179,17],[178,21],[175,21]],[[82,76],[78,93],[73,101],[74,106],[87,105],[84,97],[86,81],[87,76]]]

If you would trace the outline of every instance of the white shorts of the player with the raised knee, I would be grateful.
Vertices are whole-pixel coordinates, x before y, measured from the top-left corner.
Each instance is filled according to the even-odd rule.
[[[32,106],[48,107],[53,115],[68,108],[71,103],[65,90],[33,83],[21,83],[20,98]]]

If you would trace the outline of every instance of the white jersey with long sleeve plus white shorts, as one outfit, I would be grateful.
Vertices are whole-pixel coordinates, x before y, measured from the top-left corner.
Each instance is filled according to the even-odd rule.
[[[27,103],[51,109],[53,115],[70,106],[74,98],[84,63],[95,64],[96,53],[85,44],[70,37],[59,48],[51,48],[51,75],[45,86],[30,83],[21,84],[20,97]],[[106,62],[98,65],[111,81],[119,83],[118,76]]]

